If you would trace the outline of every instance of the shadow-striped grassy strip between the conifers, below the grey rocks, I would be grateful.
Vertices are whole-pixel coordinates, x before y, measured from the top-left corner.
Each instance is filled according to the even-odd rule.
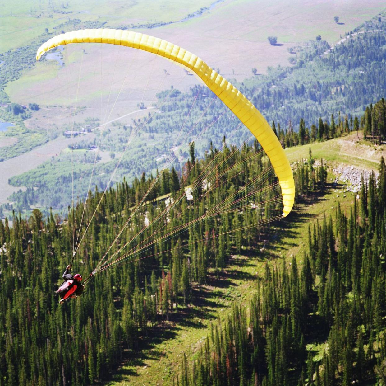
[[[340,184],[337,189],[343,190],[344,186]],[[336,195],[331,190],[312,205],[299,205],[287,224],[274,224],[273,236],[267,239],[260,256],[233,256],[223,275],[217,278],[213,274],[208,285],[195,289],[200,298],[187,310],[185,318],[165,321],[141,354],[128,353],[129,359],[107,384],[172,385],[181,370],[183,354],[188,360],[194,357],[210,333],[210,324],[226,321],[234,302],[249,304],[257,291],[256,279],[263,276],[266,264],[281,264],[283,259],[289,262],[292,256],[301,264],[303,251],[308,248],[308,225],[321,221],[324,213],[334,213],[338,202],[343,208],[353,203],[353,196],[342,195],[337,200]]]

